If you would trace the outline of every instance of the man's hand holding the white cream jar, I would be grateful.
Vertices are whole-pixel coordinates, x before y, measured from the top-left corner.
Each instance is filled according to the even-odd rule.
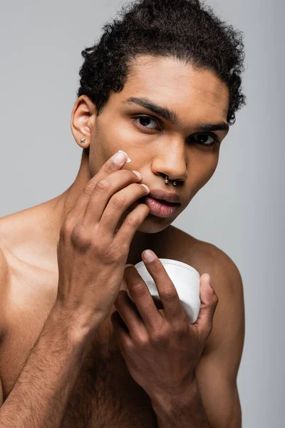
[[[199,317],[190,324],[164,266],[150,253],[154,260],[147,261],[145,252],[142,260],[155,280],[164,309],[157,309],[138,270],[131,266],[125,269],[124,277],[135,304],[121,290],[112,322],[130,375],[156,401],[158,397],[181,394],[194,384],[195,368],[212,330],[218,297],[209,285],[209,275],[203,274]]]

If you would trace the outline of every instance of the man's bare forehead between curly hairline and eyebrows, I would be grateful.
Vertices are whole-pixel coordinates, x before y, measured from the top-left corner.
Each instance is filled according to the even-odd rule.
[[[121,100],[132,96],[160,100],[165,105],[208,105],[227,115],[229,90],[214,72],[195,68],[176,58],[142,57],[133,61],[121,93]]]

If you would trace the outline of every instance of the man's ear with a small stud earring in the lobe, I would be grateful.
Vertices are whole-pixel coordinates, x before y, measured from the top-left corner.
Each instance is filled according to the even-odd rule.
[[[91,133],[94,131],[95,116],[97,114],[95,104],[86,95],[81,95],[73,106],[71,113],[71,132],[81,148],[90,146]],[[85,138],[85,141],[81,141]]]

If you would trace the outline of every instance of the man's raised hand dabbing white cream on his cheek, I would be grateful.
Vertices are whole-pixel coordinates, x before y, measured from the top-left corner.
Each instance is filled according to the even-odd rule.
[[[124,153],[115,153],[100,168],[61,226],[54,307],[66,314],[68,325],[87,335],[110,314],[133,236],[150,212],[138,203],[150,189],[139,183],[138,171],[122,169],[126,160]]]

